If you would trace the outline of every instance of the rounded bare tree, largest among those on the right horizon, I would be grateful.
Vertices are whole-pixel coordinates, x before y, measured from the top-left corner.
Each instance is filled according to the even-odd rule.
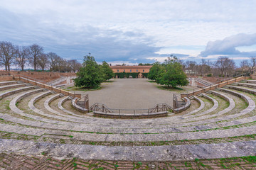
[[[228,76],[228,74],[232,73],[235,69],[235,62],[228,57],[218,57],[215,66],[220,70],[221,76]]]

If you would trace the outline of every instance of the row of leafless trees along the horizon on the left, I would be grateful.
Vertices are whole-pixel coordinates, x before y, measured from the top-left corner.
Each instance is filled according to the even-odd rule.
[[[44,52],[41,45],[20,46],[0,41],[0,65],[10,71],[12,64],[21,68],[21,71],[30,65],[34,71],[50,69],[52,72],[75,72],[82,66],[77,60],[65,60],[54,52]]]

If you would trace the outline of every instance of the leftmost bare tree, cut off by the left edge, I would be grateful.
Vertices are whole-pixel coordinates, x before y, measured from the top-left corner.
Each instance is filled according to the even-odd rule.
[[[6,71],[10,71],[10,65],[16,54],[16,49],[11,42],[0,42],[0,63],[5,66]]]

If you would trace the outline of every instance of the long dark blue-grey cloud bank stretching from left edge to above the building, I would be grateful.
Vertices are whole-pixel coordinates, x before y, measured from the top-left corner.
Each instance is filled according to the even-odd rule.
[[[137,31],[95,28],[89,24],[75,30],[64,23],[41,23],[26,14],[17,15],[1,8],[0,11],[1,16],[9,18],[0,18],[0,30],[4,32],[0,40],[9,40],[15,45],[38,43],[45,52],[56,52],[66,59],[82,62],[83,56],[90,52],[97,62],[145,62],[146,57],[158,56],[154,52],[160,49],[149,43],[152,42],[149,37]]]

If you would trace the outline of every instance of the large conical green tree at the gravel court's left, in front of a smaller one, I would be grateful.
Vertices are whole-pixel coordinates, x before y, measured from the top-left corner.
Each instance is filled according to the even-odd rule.
[[[82,88],[92,88],[100,86],[103,81],[100,65],[95,62],[95,58],[87,55],[84,57],[84,62],[80,71],[77,73],[77,78],[74,79],[75,86]]]

